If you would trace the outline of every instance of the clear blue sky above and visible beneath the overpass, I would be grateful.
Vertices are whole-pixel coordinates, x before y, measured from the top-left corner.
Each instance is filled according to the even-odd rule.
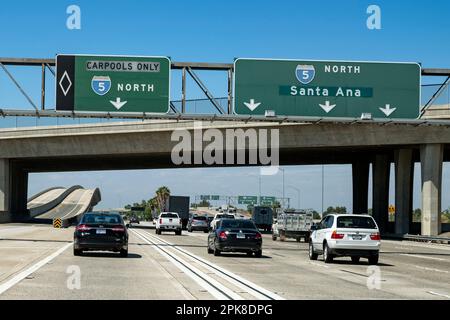
[[[81,30],[66,28],[66,8],[71,4],[81,8]],[[366,27],[366,9],[370,4],[381,8],[381,30]],[[0,56],[51,58],[57,53],[165,55],[173,61],[227,63],[236,57],[414,61],[421,62],[424,67],[449,68],[449,12],[448,1],[16,0],[2,3]],[[33,100],[39,101],[39,72],[11,70]],[[200,75],[214,95],[226,94],[223,74]],[[54,80],[50,75],[47,81],[52,87],[50,84]],[[54,104],[51,92],[52,88],[49,88],[49,108]],[[180,81],[175,76],[172,99],[178,99],[179,95]],[[192,85],[188,95],[189,98],[202,97]],[[30,108],[3,72],[0,72],[0,106]],[[40,121],[40,124],[46,123]],[[18,119],[18,122],[19,125],[33,125],[34,120]],[[0,126],[14,125],[15,119],[0,119]],[[216,193],[248,193],[255,178],[246,174],[257,172],[256,169],[237,168],[204,170],[189,170],[188,176],[197,182],[189,188],[190,193],[198,191],[200,194],[211,188],[216,188]],[[289,168],[289,172],[289,183],[304,190],[305,206],[320,209],[321,171],[318,167]],[[446,167],[444,174],[448,176]],[[66,185],[69,181],[87,187],[98,185],[104,194],[102,206],[115,207],[149,198],[154,187],[161,184],[168,184],[181,194],[185,192],[185,184],[180,182],[180,176],[179,170],[33,175],[30,192],[52,184]],[[232,176],[233,183],[224,187],[211,182],[226,180],[226,176]],[[326,176],[326,205],[351,207],[350,168],[327,167]],[[185,173],[183,177],[186,177]],[[272,178],[267,192],[263,193],[275,194],[281,188],[281,178]],[[117,185],[122,181],[126,181],[126,185],[121,185],[119,192]],[[444,207],[450,205],[450,198],[445,194],[445,190],[449,190],[446,185],[444,181]],[[114,188],[117,190],[111,190]],[[297,203],[297,193],[289,192]],[[117,196],[119,193],[120,197]]]

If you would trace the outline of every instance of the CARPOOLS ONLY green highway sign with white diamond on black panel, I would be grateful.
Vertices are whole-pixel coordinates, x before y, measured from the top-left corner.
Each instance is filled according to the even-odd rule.
[[[169,111],[167,57],[58,55],[56,110]]]

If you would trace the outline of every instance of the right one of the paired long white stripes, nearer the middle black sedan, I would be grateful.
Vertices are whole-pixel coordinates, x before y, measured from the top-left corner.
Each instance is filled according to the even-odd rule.
[[[251,281],[249,281],[247,279],[244,279],[244,278],[242,278],[242,277],[232,273],[231,271],[229,271],[227,269],[221,268],[218,265],[216,265],[216,264],[214,264],[214,263],[212,263],[212,262],[210,262],[208,260],[205,260],[205,259],[203,259],[203,258],[201,258],[201,257],[199,257],[199,256],[197,256],[197,255],[187,251],[187,250],[184,250],[184,249],[174,245],[173,243],[170,243],[170,242],[168,242],[166,240],[163,240],[163,239],[161,239],[159,237],[156,237],[156,236],[153,236],[153,235],[150,235],[150,234],[149,234],[149,236],[157,238],[158,240],[164,242],[165,244],[168,244],[168,245],[172,246],[173,248],[176,248],[177,250],[179,250],[182,253],[184,253],[184,255],[194,257],[198,261],[201,261],[203,263],[203,267],[207,268],[208,270],[211,270],[212,272],[214,272],[218,276],[228,280],[229,282],[233,282],[233,284],[238,286],[239,288],[241,288],[243,290],[246,290],[246,291],[248,291],[249,289],[253,288],[253,289],[263,293],[264,295],[266,295],[266,297],[264,297],[261,294],[259,294],[258,292],[254,292],[254,290],[252,290],[254,293],[250,293],[250,294],[253,295],[253,296],[257,295],[258,297],[261,297],[261,299],[267,299],[267,297],[270,297],[270,298],[272,298],[274,300],[285,300],[283,297],[281,297],[281,296],[279,296],[279,295],[277,295],[277,294],[275,294],[275,293],[273,293],[273,292],[271,292],[271,291],[269,291],[267,289],[264,289],[264,288],[256,285],[255,283],[253,283],[253,282],[251,282]]]

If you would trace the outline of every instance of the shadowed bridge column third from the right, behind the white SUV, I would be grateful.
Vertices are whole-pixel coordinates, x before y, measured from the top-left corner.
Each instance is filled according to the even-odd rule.
[[[381,233],[387,232],[389,215],[389,177],[391,163],[389,156],[377,154],[372,167],[372,216]]]

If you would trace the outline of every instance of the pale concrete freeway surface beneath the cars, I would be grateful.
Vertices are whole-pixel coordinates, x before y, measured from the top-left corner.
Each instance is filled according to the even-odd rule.
[[[263,257],[206,252],[203,232],[131,228],[129,257],[72,253],[73,228],[0,225],[0,299],[450,299],[450,246],[382,241],[380,264],[308,258],[264,235]]]

